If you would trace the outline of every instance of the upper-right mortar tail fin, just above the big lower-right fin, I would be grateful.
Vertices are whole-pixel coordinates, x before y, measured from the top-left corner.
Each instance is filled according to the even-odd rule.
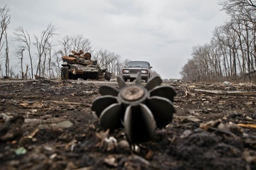
[[[150,96],[164,97],[173,102],[173,98],[176,95],[176,92],[170,86],[161,85],[161,86],[154,87],[154,89],[149,91],[149,94]]]

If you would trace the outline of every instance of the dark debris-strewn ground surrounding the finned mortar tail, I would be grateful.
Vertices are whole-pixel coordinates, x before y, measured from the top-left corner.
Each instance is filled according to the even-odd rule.
[[[0,80],[0,170],[256,169],[255,85],[164,83],[177,92],[173,122],[130,147],[122,129],[102,131],[91,110],[102,83],[117,87]]]

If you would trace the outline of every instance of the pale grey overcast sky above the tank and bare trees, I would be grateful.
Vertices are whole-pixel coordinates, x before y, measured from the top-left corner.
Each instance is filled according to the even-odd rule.
[[[83,34],[95,51],[148,61],[162,78],[180,78],[192,46],[209,42],[225,12],[218,0],[1,0],[11,9],[9,35],[23,26],[40,34],[49,23],[60,34]],[[10,47],[10,51],[13,50]]]

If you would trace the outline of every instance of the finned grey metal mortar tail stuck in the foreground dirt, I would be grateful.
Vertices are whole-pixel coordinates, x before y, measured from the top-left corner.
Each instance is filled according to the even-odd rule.
[[[130,142],[154,139],[156,128],[171,123],[175,113],[173,98],[176,92],[171,86],[161,83],[161,78],[155,76],[142,86],[141,76],[137,74],[136,82],[131,86],[126,86],[119,76],[119,90],[102,85],[99,89],[102,96],[92,104],[100,126],[110,131],[124,128]]]

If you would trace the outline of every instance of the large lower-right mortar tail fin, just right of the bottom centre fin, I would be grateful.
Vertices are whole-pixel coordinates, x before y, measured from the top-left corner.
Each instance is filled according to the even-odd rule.
[[[147,99],[147,107],[151,110],[158,128],[171,123],[175,108],[173,103],[163,97],[153,96]]]

